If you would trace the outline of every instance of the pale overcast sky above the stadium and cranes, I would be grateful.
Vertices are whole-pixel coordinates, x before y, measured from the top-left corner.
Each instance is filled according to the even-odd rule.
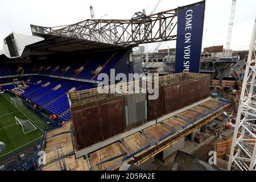
[[[150,14],[158,0],[0,0],[0,48],[12,31],[31,35],[30,24],[53,27],[90,19],[90,5],[96,19],[130,19],[135,12]],[[188,5],[199,0],[162,0],[155,13]],[[203,47],[226,44],[232,0],[206,0]],[[255,18],[255,0],[237,0],[232,40],[233,50],[249,49]],[[160,48],[174,48],[175,41]],[[150,44],[148,49],[156,44]]]

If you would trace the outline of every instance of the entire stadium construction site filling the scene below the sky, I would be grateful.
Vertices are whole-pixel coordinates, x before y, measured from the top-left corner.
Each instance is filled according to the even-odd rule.
[[[205,1],[155,13],[159,0],[131,19],[95,19],[90,6],[91,19],[12,32],[0,171],[255,171],[256,19],[249,51],[232,51],[237,1],[225,46],[202,47]],[[13,120],[27,144],[3,137]]]

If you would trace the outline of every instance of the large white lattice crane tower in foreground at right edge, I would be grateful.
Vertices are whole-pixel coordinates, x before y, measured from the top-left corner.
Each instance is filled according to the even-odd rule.
[[[237,110],[228,169],[256,171],[256,17]],[[254,60],[252,59],[254,56]]]

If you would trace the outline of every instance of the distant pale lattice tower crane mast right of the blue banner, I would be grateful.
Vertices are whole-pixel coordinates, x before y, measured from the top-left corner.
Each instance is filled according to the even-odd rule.
[[[229,56],[229,49],[230,49],[230,41],[231,41],[231,35],[232,35],[232,29],[233,29],[233,23],[234,23],[234,13],[236,10],[236,0],[232,0],[232,7],[231,7],[231,13],[230,13],[230,19],[229,19],[229,29],[228,29],[228,37],[226,39],[226,47],[225,47],[225,56]]]

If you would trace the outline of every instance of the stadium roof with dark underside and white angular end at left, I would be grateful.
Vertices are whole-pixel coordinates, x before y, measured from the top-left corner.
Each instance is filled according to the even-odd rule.
[[[29,57],[33,55],[51,55],[54,53],[89,52],[125,48],[108,43],[95,42],[80,38],[61,35],[27,36],[12,32],[3,39],[3,49],[0,50],[0,59]],[[15,41],[14,41],[15,40]]]

